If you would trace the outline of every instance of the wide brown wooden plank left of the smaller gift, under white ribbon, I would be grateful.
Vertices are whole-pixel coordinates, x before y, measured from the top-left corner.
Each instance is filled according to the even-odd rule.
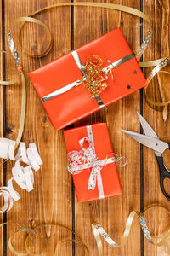
[[[63,0],[60,2],[63,2]],[[55,1],[53,0],[43,2],[20,0],[17,3],[9,0],[5,2],[6,32],[9,27],[9,21],[20,16],[29,15],[37,9],[54,3]],[[45,22],[53,34],[54,47],[52,52],[43,57],[41,61],[38,61],[31,59],[19,49],[26,74],[27,91],[26,125],[23,141],[26,141],[27,145],[28,143],[37,144],[43,165],[41,170],[34,172],[34,190],[30,194],[14,185],[14,188],[20,193],[21,199],[18,202],[14,202],[12,211],[8,212],[8,219],[26,224],[28,227],[34,227],[42,223],[59,223],[71,228],[71,177],[66,170],[67,157],[63,133],[62,131],[54,131],[28,78],[28,73],[32,70],[71,50],[71,9],[53,9],[38,15],[38,18]],[[14,26],[12,30],[16,45],[18,45],[18,28],[19,26]],[[65,35],[64,37],[63,34]],[[41,47],[45,49],[47,41],[48,38],[42,27],[26,25],[23,32],[23,45],[26,49],[31,49],[34,52],[40,50]],[[34,45],[35,43],[37,46]],[[12,57],[8,57],[8,67],[12,69],[8,69],[7,77],[16,78],[20,81],[20,78],[16,75]],[[8,137],[11,139],[15,139],[17,136],[20,119],[20,100],[20,86],[8,88],[6,108],[8,131],[10,131]],[[8,162],[7,180],[11,177],[11,167],[13,165],[13,163]],[[15,228],[8,227],[7,240],[14,230]],[[53,234],[54,230],[58,230],[56,236]],[[47,253],[48,255],[53,255],[57,238],[65,239],[65,237],[69,236],[68,232],[63,229],[44,229],[43,232],[45,232],[43,234],[46,235],[51,245],[46,248],[47,252],[44,255],[47,255]],[[22,239],[21,241],[19,240],[19,236],[14,237],[14,245],[19,250],[22,241]],[[44,245],[41,245],[41,249],[43,247]],[[59,255],[71,255],[71,243],[68,243],[65,247],[60,246],[58,253]],[[12,255],[9,250],[8,255]]]

